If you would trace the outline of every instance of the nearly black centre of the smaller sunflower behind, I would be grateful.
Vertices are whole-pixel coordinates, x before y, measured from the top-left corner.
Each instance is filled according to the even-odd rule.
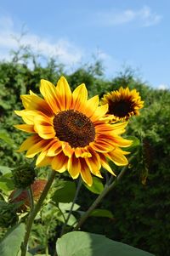
[[[111,102],[109,105],[109,113],[116,117],[125,117],[129,112],[133,111],[132,102],[120,100],[118,102]]]

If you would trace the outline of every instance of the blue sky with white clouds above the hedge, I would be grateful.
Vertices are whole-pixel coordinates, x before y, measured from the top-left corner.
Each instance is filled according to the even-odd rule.
[[[34,52],[53,56],[69,71],[103,61],[105,77],[131,66],[143,81],[170,88],[170,1],[0,1],[0,59],[16,48],[24,27]]]

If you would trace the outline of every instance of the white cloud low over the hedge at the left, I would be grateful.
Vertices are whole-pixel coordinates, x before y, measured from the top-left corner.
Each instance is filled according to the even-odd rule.
[[[14,21],[10,17],[0,19],[0,59],[7,59],[11,49],[19,47],[20,44],[28,45],[34,53],[42,54],[44,57],[57,58],[65,65],[74,65],[82,59],[82,49],[77,48],[74,43],[60,38],[51,42],[49,38],[39,37],[35,34],[26,33],[20,37],[20,32],[14,29]]]

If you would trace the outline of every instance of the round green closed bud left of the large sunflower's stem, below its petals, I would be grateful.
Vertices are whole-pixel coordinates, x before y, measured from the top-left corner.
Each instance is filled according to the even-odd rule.
[[[33,166],[27,163],[14,168],[12,174],[15,187],[21,189],[26,189],[26,187],[34,182],[36,177]]]

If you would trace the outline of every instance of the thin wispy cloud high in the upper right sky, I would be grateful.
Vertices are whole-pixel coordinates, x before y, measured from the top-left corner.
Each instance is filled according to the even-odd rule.
[[[96,14],[96,20],[104,26],[117,26],[137,22],[139,26],[154,26],[161,22],[161,15],[153,12],[150,7],[142,9],[125,9],[123,11],[109,10]]]

